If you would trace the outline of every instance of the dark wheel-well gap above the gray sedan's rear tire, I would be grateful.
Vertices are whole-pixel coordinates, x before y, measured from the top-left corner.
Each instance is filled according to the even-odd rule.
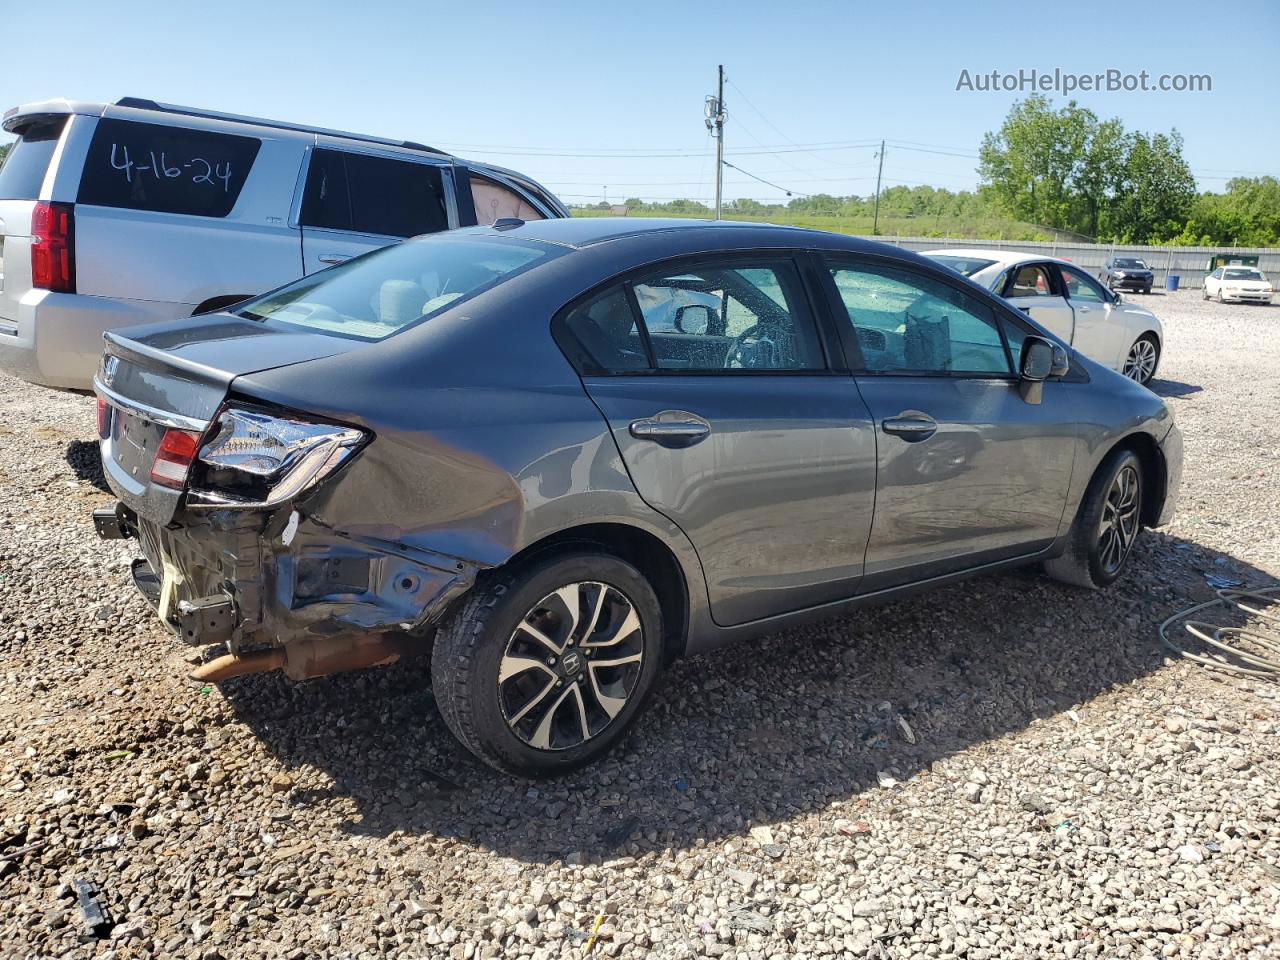
[[[666,630],[663,646],[669,663],[684,655],[689,632],[689,586],[676,554],[653,534],[627,524],[584,524],[530,544],[503,566],[534,554],[589,544],[625,559],[644,573],[658,594]]]

